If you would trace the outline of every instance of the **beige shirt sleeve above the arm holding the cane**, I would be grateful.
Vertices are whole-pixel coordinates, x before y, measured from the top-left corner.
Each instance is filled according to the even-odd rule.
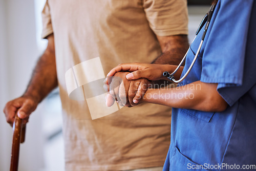
[[[42,10],[42,38],[46,38],[53,33],[51,13],[48,1],[46,1],[45,7]]]

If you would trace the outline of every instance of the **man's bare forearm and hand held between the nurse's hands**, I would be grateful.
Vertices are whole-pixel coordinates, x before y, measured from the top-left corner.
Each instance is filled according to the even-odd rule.
[[[182,57],[186,53],[189,45],[187,35],[173,35],[173,36],[157,36],[162,54],[157,57],[152,63],[178,65]],[[125,70],[123,70],[125,71]],[[114,104],[115,100],[119,101],[120,105],[135,106],[142,99],[146,90],[159,81],[152,81],[146,78],[137,80],[127,80],[125,72],[117,72],[111,76],[120,77],[124,83],[124,87],[119,90],[119,86],[115,89],[105,86],[105,90],[110,93],[106,96],[107,106]],[[112,80],[113,81],[113,80]],[[110,85],[111,78],[107,78],[105,83]],[[121,82],[120,82],[121,83]],[[112,82],[112,84],[118,84]],[[135,96],[137,98],[135,98]]]

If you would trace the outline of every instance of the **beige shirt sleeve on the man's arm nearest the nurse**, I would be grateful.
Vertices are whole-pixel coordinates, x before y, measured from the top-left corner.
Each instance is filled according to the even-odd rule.
[[[188,34],[186,0],[143,0],[143,8],[156,35]]]

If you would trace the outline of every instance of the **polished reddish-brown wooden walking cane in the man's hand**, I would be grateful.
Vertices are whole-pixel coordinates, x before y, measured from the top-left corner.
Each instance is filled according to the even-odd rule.
[[[12,155],[10,171],[18,170],[19,144],[25,141],[26,125],[23,126],[23,120],[15,114],[13,124],[13,139],[12,139]]]

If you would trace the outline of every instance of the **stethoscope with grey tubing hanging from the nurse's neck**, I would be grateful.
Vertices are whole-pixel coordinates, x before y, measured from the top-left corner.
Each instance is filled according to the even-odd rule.
[[[207,12],[207,14],[206,14],[206,15],[204,16],[204,18],[202,19],[202,22],[200,23],[200,25],[199,25],[199,27],[198,27],[198,29],[197,29],[195,38],[197,37],[198,33],[200,32],[200,30],[203,28],[203,26],[204,26],[205,23],[206,23],[205,28],[204,28],[204,33],[203,33],[203,35],[202,35],[202,39],[201,39],[200,45],[199,45],[199,47],[198,47],[197,53],[196,53],[196,55],[195,55],[195,57],[194,57],[194,59],[193,59],[191,65],[189,66],[187,72],[186,72],[186,73],[183,75],[183,77],[180,78],[179,80],[176,80],[176,79],[174,78],[174,74],[179,70],[180,66],[181,66],[182,63],[184,62],[184,60],[185,60],[185,58],[186,58],[186,56],[187,56],[187,53],[188,53],[190,47],[188,48],[188,50],[187,50],[185,56],[183,57],[183,59],[181,60],[180,64],[178,65],[178,67],[175,69],[175,71],[174,71],[172,74],[168,73],[167,71],[165,71],[165,72],[163,73],[163,76],[167,77],[168,80],[173,81],[173,82],[176,82],[176,83],[181,82],[183,79],[186,78],[187,74],[190,72],[191,68],[194,66],[194,63],[196,62],[197,57],[198,57],[198,54],[199,54],[199,52],[200,52],[200,50],[201,50],[201,48],[202,48],[203,41],[204,41],[204,37],[205,37],[205,34],[206,34],[207,30],[208,30],[208,27],[209,27],[209,24],[210,24],[210,20],[211,20],[211,17],[212,17],[212,13],[214,13],[215,7],[216,7],[216,3],[212,4],[212,6],[210,7],[209,11]],[[195,38],[194,38],[194,40],[195,40]],[[193,41],[194,41],[194,40],[193,40]],[[190,45],[190,46],[191,46],[191,45]]]

